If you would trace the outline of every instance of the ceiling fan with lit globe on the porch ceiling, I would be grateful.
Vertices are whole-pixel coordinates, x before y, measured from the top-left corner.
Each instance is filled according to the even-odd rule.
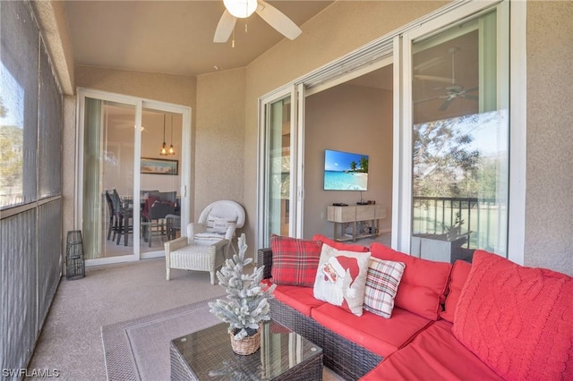
[[[213,42],[227,42],[236,19],[247,18],[255,12],[286,38],[295,39],[303,32],[285,13],[263,0],[223,0],[223,3],[227,9],[218,21]]]

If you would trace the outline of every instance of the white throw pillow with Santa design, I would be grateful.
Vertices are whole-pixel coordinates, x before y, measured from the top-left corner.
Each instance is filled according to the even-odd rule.
[[[361,316],[369,260],[370,253],[336,250],[323,243],[314,297]]]

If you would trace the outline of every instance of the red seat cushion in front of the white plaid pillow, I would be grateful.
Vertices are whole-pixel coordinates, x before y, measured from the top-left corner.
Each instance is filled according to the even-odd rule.
[[[392,318],[363,311],[362,317],[325,303],[312,309],[311,317],[322,326],[382,357],[409,343],[432,320],[395,308]]]

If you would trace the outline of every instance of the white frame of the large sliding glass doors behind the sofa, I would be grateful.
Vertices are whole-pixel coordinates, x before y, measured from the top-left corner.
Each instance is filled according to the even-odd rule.
[[[524,264],[525,245],[525,207],[526,207],[526,3],[509,0],[491,2],[452,2],[440,9],[429,13],[419,20],[410,22],[398,30],[378,38],[354,52],[335,60],[320,69],[304,75],[284,87],[270,92],[259,99],[259,160],[257,162],[257,249],[261,249],[262,239],[261,219],[264,218],[264,187],[262,170],[264,169],[264,140],[266,119],[266,106],[278,100],[281,94],[290,93],[293,105],[299,109],[298,118],[291,118],[291,129],[300,132],[301,146],[297,152],[297,171],[292,173],[303,176],[304,170],[304,91],[312,92],[313,87],[322,86],[329,81],[334,82],[342,75],[362,70],[364,66],[377,62],[389,51],[393,60],[393,184],[392,184],[392,238],[391,246],[394,250],[410,252],[410,236],[412,223],[412,39],[437,30],[443,30],[468,16],[483,12],[500,3],[508,3],[509,17],[509,47],[501,47],[509,52],[509,231],[508,231],[508,258],[517,263]],[[406,85],[407,84],[407,85]],[[328,86],[328,85],[327,85]],[[295,95],[297,97],[295,97]],[[293,107],[295,108],[295,107]],[[298,123],[298,125],[295,125]],[[291,142],[292,144],[292,142]],[[293,151],[295,152],[295,151]],[[294,154],[293,154],[294,155]],[[291,165],[291,168],[293,166]],[[292,184],[291,184],[292,185]],[[304,187],[302,182],[295,184],[297,205],[304,205]],[[293,190],[291,190],[292,192]],[[293,194],[293,193],[291,193]],[[302,219],[302,214],[298,215]],[[296,221],[296,237],[302,236],[303,221]],[[295,234],[291,234],[295,236]]]

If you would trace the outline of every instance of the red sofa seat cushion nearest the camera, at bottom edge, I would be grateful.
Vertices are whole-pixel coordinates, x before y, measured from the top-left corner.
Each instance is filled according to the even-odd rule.
[[[503,380],[456,340],[451,326],[438,320],[361,380]]]

